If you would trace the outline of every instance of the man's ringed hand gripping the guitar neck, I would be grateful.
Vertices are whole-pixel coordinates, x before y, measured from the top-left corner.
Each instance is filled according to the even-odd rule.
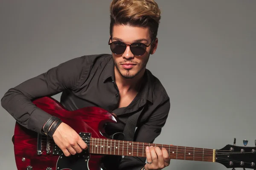
[[[147,162],[151,164],[145,164],[145,170],[161,170],[164,167],[169,166],[170,157],[166,148],[162,150],[159,147],[146,147]]]

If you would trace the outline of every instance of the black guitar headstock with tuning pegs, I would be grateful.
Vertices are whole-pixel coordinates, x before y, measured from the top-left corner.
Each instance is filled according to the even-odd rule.
[[[247,140],[243,140],[244,146],[227,144],[222,149],[216,150],[215,161],[223,164],[227,168],[248,168],[256,169],[256,147],[247,147]],[[256,140],[255,140],[256,146]]]

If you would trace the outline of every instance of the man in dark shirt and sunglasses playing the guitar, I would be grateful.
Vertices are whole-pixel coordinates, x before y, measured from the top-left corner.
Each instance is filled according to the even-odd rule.
[[[108,44],[112,55],[71,59],[9,89],[1,99],[3,108],[20,125],[52,137],[65,156],[80,153],[87,145],[75,130],[37,108],[32,100],[62,92],[60,102],[69,110],[98,106],[113,112],[120,122],[106,125],[109,135],[123,132],[129,116],[144,108],[134,136],[137,142],[152,143],[169,113],[169,96],[160,81],[146,69],[149,56],[158,44],[157,3],[113,0],[110,11]],[[146,164],[145,159],[131,156],[122,159],[106,156],[102,161],[111,170],[160,170],[170,162],[167,150],[159,147],[147,147],[146,159]]]

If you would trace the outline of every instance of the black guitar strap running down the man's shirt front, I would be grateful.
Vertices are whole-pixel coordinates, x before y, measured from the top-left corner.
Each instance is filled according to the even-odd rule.
[[[124,140],[125,141],[133,141],[134,140],[134,133],[135,128],[137,126],[138,118],[140,117],[140,113],[143,111],[144,107],[140,109],[140,111],[134,113],[132,116],[130,116],[125,124],[124,128]]]

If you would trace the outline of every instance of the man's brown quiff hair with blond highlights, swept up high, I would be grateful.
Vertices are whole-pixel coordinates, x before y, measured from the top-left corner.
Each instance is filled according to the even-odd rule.
[[[112,0],[110,4],[110,35],[114,25],[149,28],[150,38],[157,37],[161,11],[154,0]]]

